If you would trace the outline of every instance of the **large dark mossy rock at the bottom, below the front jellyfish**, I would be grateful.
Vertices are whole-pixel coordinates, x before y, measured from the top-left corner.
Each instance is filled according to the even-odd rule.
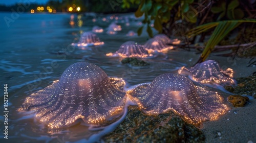
[[[169,111],[157,116],[143,114],[137,106],[115,131],[103,137],[105,142],[204,142],[204,134],[194,125]]]

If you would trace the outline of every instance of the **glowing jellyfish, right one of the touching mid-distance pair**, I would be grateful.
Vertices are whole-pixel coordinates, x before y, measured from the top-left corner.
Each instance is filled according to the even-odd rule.
[[[156,38],[151,38],[146,41],[144,44],[145,50],[147,50],[148,53],[165,53],[168,50],[174,49],[173,46],[167,45],[165,42],[162,40],[156,39]]]

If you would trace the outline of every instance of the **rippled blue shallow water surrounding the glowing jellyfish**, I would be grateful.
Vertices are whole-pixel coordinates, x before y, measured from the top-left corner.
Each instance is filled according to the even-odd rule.
[[[102,21],[103,16],[93,22],[93,17],[81,15],[24,13],[19,14],[19,17],[10,23],[9,28],[6,23],[1,23],[0,80],[2,89],[4,84],[8,84],[8,141],[79,141],[95,133],[81,125],[58,130],[42,128],[30,116],[17,112],[27,96],[58,80],[63,71],[75,62],[94,63],[108,76],[123,78],[131,86],[151,82],[163,73],[176,71],[181,66],[191,66],[195,63],[199,55],[183,50],[173,50],[168,52],[167,56],[146,59],[151,63],[147,67],[131,67],[121,64],[120,58],[106,57],[106,53],[117,51],[126,41],[134,40],[144,44],[148,39],[145,29],[140,37],[126,36],[130,30],[136,31],[140,27],[139,20],[132,19],[131,15],[121,15],[130,18],[130,26],[126,26],[124,20],[119,18],[117,24],[122,26],[122,31],[117,32],[116,35],[105,33],[106,28],[114,21],[109,19],[109,16],[106,16],[108,22]],[[5,16],[11,17],[11,13],[0,13],[0,17]],[[104,45],[94,47],[92,50],[73,49],[70,46],[71,43],[79,40],[82,32],[91,31],[95,25],[104,29],[103,33],[97,33],[100,40],[104,41]],[[238,62],[242,61],[238,60]],[[230,64],[226,62],[222,65]],[[0,97],[4,98],[3,94],[0,94]],[[3,108],[0,109],[2,113]],[[3,115],[0,115],[0,121],[0,129],[3,131]],[[3,137],[1,133],[0,140]]]

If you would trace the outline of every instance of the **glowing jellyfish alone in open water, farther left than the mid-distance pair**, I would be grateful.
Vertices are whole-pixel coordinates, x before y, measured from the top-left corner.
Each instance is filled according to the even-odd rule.
[[[93,46],[93,45],[102,45],[102,44],[104,44],[104,42],[101,42],[97,37],[97,35],[92,32],[82,33],[78,43],[72,43],[72,45],[76,45],[76,46]]]

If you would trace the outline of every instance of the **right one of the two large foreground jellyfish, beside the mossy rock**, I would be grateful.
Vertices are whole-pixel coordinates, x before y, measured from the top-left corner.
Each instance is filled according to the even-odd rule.
[[[227,108],[217,92],[195,86],[186,76],[173,73],[162,74],[150,84],[138,85],[127,94],[146,114],[171,110],[192,124],[215,120]]]

